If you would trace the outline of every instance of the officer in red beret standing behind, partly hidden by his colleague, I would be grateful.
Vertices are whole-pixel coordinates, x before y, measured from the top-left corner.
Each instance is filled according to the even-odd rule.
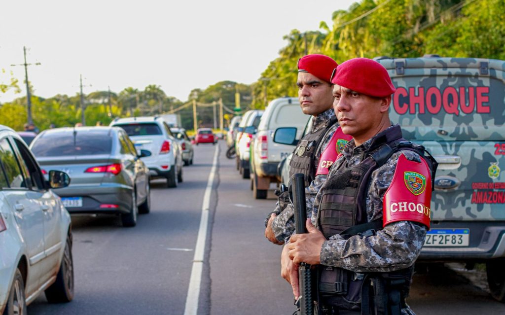
[[[307,208],[312,209],[314,197],[339,153],[337,150],[350,140],[350,136],[339,130],[335,132],[338,123],[332,109],[330,80],[337,63],[324,55],[308,55],[301,58],[297,66],[300,107],[304,114],[313,116],[313,124],[293,151],[289,174],[305,175]],[[293,207],[287,192],[279,196],[275,211],[269,214],[265,225],[265,237],[274,244],[284,244],[284,239],[294,232]]]

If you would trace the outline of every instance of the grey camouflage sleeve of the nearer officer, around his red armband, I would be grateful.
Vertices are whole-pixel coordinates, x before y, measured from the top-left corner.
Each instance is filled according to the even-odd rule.
[[[390,160],[372,173],[367,197],[369,221],[382,218],[382,200],[391,184],[396,162],[403,153],[409,160],[419,161],[412,151],[394,153]],[[335,235],[321,248],[321,264],[356,272],[388,272],[411,266],[419,256],[426,237],[426,227],[400,221],[387,225],[376,235],[355,235],[344,240]]]

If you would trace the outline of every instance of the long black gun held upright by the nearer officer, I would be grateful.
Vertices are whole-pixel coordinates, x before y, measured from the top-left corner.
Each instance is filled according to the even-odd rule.
[[[294,174],[291,177],[290,192],[294,206],[294,222],[296,234],[307,233],[307,204],[305,201],[304,174]],[[300,263],[298,266],[298,284],[300,296],[295,301],[299,315],[313,315],[314,302],[312,299],[311,265]]]

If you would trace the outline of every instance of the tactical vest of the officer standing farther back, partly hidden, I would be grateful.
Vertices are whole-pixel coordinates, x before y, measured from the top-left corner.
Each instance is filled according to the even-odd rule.
[[[289,163],[289,178],[293,174],[304,174],[305,187],[309,187],[316,176],[316,166],[314,165],[316,151],[321,144],[328,129],[337,122],[336,117],[332,117],[326,122],[324,128],[316,132],[308,133],[303,137],[294,148],[291,162]]]

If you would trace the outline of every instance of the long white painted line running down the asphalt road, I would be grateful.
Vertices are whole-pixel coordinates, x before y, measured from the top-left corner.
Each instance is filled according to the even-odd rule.
[[[188,294],[186,297],[186,306],[184,306],[184,315],[196,315],[198,311],[198,298],[200,296],[201,272],[204,267],[205,243],[207,241],[207,227],[209,222],[209,207],[211,202],[212,183],[216,173],[218,161],[219,146],[216,146],[214,152],[214,161],[212,162],[211,174],[207,181],[207,188],[204,194],[204,203],[201,206],[200,227],[196,246],[194,249],[193,266],[191,268],[191,277],[189,279]]]

